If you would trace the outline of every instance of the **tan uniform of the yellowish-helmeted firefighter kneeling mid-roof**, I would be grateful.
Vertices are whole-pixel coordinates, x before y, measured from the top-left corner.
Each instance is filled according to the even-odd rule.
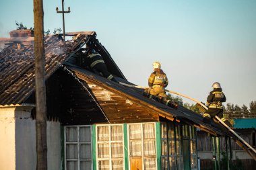
[[[168,85],[166,74],[161,69],[155,69],[148,78],[148,85],[150,86],[150,95],[159,95],[160,97],[167,97],[164,87]]]

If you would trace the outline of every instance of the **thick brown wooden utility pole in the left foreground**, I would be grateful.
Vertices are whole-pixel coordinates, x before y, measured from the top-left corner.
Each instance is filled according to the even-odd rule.
[[[44,79],[44,11],[42,0],[34,0],[34,54],[36,62],[36,170],[46,170],[46,93]]]

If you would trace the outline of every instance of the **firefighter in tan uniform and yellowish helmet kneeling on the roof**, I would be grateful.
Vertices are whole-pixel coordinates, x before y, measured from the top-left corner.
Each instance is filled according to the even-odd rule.
[[[164,71],[162,71],[160,62],[153,62],[153,69],[154,72],[151,73],[150,77],[148,78],[148,85],[150,86],[149,89],[146,89],[143,95],[149,97],[150,99],[155,99],[161,103],[164,103],[171,108],[178,108],[177,103],[173,103],[170,100],[167,100],[165,87],[168,85],[168,79]]]

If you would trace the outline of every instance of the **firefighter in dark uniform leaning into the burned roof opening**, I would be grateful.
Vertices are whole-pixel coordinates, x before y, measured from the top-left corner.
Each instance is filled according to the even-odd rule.
[[[90,66],[92,71],[94,71],[94,73],[102,75],[103,77],[106,77],[106,79],[118,83],[115,77],[108,72],[102,56],[98,52],[96,52],[96,50],[90,50],[90,54],[86,57],[86,59],[88,60],[88,65]]]

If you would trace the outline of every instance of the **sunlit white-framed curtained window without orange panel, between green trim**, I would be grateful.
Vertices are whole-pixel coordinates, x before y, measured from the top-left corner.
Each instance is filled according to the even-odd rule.
[[[122,125],[96,125],[97,169],[124,169]]]

